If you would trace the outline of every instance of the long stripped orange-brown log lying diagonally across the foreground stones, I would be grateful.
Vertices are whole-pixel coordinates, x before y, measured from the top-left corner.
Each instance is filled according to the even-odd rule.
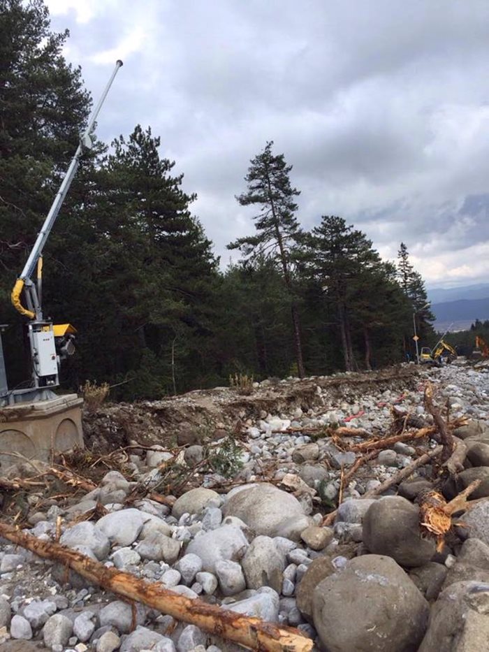
[[[259,618],[249,618],[227,611],[214,604],[201,600],[190,600],[178,593],[161,588],[159,584],[149,584],[115,568],[106,568],[81,553],[49,541],[41,541],[27,535],[22,530],[0,523],[0,536],[31,550],[39,557],[57,561],[86,577],[93,584],[122,595],[129,600],[137,600],[163,614],[177,620],[228,639],[250,650],[270,652],[309,652],[313,642],[300,635],[293,628],[277,627]]]

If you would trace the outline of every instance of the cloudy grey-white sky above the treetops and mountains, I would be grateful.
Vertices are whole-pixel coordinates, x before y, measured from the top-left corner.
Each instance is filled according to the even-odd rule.
[[[226,265],[251,158],[293,166],[305,229],[340,215],[428,287],[489,279],[487,0],[46,0],[106,142],[136,124],[196,192]]]

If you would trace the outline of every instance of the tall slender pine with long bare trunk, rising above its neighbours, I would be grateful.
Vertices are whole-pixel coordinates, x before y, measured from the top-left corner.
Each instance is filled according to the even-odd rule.
[[[298,205],[295,197],[300,191],[290,181],[292,166],[286,164],[284,154],[272,153],[273,141],[251,159],[245,177],[247,191],[237,197],[242,206],[257,205],[260,211],[254,216],[256,235],[238,238],[228,245],[229,249],[240,249],[246,260],[265,257],[275,261],[281,268],[284,282],[291,297],[295,355],[298,374],[305,375],[302,360],[300,319],[298,301],[293,288],[293,252],[300,240],[301,231],[295,212]]]

